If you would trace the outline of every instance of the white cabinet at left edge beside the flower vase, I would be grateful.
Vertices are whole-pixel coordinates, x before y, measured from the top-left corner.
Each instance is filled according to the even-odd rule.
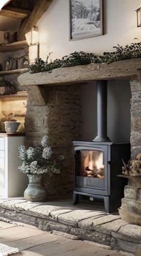
[[[24,136],[0,133],[0,198],[23,196],[27,187],[27,177],[18,169],[19,146],[24,144]]]

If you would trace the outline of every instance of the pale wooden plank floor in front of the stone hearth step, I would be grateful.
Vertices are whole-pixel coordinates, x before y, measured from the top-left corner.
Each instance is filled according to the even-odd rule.
[[[96,245],[56,236],[23,224],[0,221],[0,243],[19,248],[16,256],[119,256]]]

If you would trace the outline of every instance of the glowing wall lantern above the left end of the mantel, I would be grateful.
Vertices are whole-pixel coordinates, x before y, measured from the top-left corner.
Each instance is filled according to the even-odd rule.
[[[35,59],[39,59],[39,32],[38,27],[33,26],[29,32],[25,34],[27,44],[29,45],[29,63],[34,63]]]

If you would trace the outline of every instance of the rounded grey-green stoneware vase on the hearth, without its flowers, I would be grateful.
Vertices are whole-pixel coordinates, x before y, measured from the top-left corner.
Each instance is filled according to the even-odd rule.
[[[42,187],[41,178],[42,175],[27,175],[29,178],[29,184],[24,191],[24,199],[30,202],[45,202],[47,200],[47,194]]]

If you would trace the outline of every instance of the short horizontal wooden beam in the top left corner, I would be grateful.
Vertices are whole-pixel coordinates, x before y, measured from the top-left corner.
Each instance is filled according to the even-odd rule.
[[[0,11],[1,16],[10,17],[14,19],[24,19],[27,16],[29,16],[29,14],[30,14],[30,11],[28,10],[23,10],[23,9],[18,9],[13,7],[4,7]]]

